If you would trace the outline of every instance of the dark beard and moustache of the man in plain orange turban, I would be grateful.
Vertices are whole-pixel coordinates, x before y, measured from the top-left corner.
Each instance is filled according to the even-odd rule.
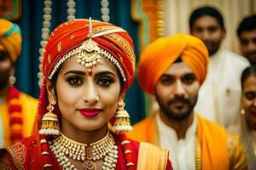
[[[195,96],[194,99],[188,99],[185,97],[176,96],[172,99],[169,99],[167,101],[167,105],[165,105],[165,103],[160,99],[160,97],[158,95],[156,95],[156,100],[158,101],[158,104],[160,105],[160,110],[165,114],[166,117],[168,117],[172,120],[175,120],[177,122],[180,122],[192,114],[195,104],[196,104],[196,101],[197,101],[197,95]],[[176,108],[177,111],[174,111],[171,106],[176,101],[185,103],[185,105],[183,105],[184,108],[180,108],[179,111],[178,111],[178,108]]]

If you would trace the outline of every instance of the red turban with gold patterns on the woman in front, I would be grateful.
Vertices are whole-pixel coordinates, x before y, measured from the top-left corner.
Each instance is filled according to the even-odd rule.
[[[55,28],[45,47],[43,71],[44,76],[53,76],[65,54],[78,48],[88,40],[89,20],[67,21]],[[125,91],[131,86],[135,71],[135,54],[133,42],[127,31],[106,22],[92,20],[92,41],[105,52],[116,65],[125,81]],[[108,55],[107,54],[107,55]],[[106,56],[105,56],[106,57]],[[115,60],[115,61],[114,61]]]

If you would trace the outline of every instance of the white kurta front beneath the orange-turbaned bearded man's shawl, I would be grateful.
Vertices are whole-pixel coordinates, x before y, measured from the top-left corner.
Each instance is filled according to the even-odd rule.
[[[184,139],[177,139],[177,133],[172,127],[167,126],[156,115],[156,123],[159,130],[160,147],[169,150],[169,159],[175,170],[195,170],[195,142],[196,142],[196,118],[187,129]]]

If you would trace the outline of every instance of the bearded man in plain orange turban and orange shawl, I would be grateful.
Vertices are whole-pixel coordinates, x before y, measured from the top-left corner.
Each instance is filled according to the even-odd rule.
[[[207,47],[197,37],[180,33],[149,44],[138,63],[138,82],[160,110],[128,135],[170,150],[174,169],[247,169],[239,137],[194,111],[207,62]]]

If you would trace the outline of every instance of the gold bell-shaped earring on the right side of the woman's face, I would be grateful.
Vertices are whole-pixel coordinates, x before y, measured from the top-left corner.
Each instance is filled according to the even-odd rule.
[[[112,130],[114,133],[125,133],[132,130],[129,113],[125,111],[124,108],[125,102],[119,101],[118,111],[116,111],[113,116],[114,122]]]

